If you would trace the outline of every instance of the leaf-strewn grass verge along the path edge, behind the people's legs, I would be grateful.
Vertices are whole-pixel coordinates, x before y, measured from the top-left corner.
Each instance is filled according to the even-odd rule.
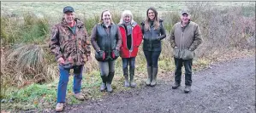
[[[201,71],[205,68],[209,68],[211,64],[217,63],[219,61],[236,59],[241,57],[252,56],[254,51],[237,51],[236,49],[230,50],[229,53],[223,54],[221,56],[210,58],[201,58],[193,60],[193,72]],[[121,59],[117,59],[121,60]],[[173,81],[174,80],[174,69],[175,66],[173,61],[170,59],[164,59],[159,61],[159,72],[158,79],[163,81]],[[117,61],[118,62],[118,61]],[[118,63],[116,63],[118,65]],[[120,67],[116,67],[118,70]],[[72,75],[71,71],[71,75]],[[138,64],[135,71],[136,77],[135,82],[137,83],[137,88],[141,88],[145,85],[144,80],[146,79],[146,66]],[[121,91],[130,90],[130,88],[124,88],[123,86],[124,78],[122,76],[122,71],[117,71],[113,81],[114,93]],[[68,105],[78,105],[82,101],[74,99],[72,96],[72,84],[73,76],[69,76],[68,91],[66,102]],[[90,73],[84,72],[82,79],[81,92],[85,94],[86,99],[101,99],[107,96],[108,93],[100,92],[99,86],[101,84],[101,78],[99,71],[91,71]],[[57,81],[47,83],[47,84],[32,84],[26,88],[9,88],[7,97],[1,100],[2,110],[19,111],[19,110],[52,110],[55,108],[57,101]]]

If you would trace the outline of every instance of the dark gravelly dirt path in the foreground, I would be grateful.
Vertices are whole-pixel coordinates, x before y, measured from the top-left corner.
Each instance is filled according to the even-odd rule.
[[[171,89],[173,82],[158,82],[144,87],[110,94],[103,100],[87,101],[74,113],[253,113],[255,112],[255,58],[235,59],[211,65],[211,69],[193,74],[191,93],[182,87]]]

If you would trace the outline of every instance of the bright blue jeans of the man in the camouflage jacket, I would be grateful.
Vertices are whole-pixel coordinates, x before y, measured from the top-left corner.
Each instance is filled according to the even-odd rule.
[[[75,65],[71,69],[74,69],[74,82],[73,82],[73,92],[80,93],[82,71],[84,65]],[[60,70],[60,80],[57,86],[57,103],[64,103],[66,99],[68,77],[70,69],[65,69],[63,66],[59,65]]]

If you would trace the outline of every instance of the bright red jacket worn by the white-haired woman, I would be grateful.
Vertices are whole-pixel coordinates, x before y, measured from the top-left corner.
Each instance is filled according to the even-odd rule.
[[[133,28],[132,44],[131,44],[131,51],[129,51],[127,47],[127,36],[126,36],[125,28],[123,25],[119,25],[119,29],[122,35],[122,46],[120,48],[120,56],[122,58],[136,57],[140,43],[142,42],[143,35],[140,29],[140,25],[138,25],[136,22],[133,22],[132,28]]]

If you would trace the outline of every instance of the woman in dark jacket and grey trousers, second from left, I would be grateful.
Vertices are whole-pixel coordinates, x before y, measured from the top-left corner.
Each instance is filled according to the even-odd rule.
[[[102,84],[100,91],[113,91],[111,83],[115,75],[115,61],[119,56],[122,36],[117,25],[112,21],[109,10],[104,10],[100,23],[92,29],[91,42],[95,49],[95,58],[98,60]]]

